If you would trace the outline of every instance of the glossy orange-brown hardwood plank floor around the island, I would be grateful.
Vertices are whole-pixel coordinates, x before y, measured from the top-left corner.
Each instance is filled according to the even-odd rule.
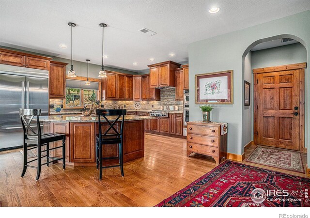
[[[22,154],[2,152],[0,200],[2,206],[154,206],[216,166],[211,157],[186,157],[186,140],[153,134],[145,134],[144,157],[124,164],[124,177],[109,168],[101,181],[93,166],[62,171],[62,164],[44,166],[37,182],[35,169],[21,178]]]

